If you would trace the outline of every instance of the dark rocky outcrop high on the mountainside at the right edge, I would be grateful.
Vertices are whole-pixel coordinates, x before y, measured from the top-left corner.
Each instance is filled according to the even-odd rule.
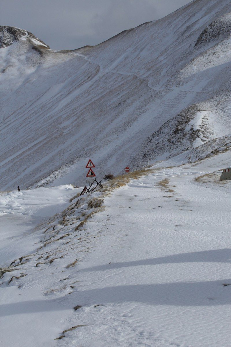
[[[195,46],[221,41],[231,36],[231,12],[217,18],[199,35]]]

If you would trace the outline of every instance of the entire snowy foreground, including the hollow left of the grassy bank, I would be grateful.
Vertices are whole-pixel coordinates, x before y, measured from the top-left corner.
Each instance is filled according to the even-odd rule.
[[[230,346],[230,151],[189,152],[110,192],[1,194],[1,346]]]

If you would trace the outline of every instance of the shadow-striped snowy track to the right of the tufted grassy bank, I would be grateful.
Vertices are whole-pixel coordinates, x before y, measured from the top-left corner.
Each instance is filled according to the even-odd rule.
[[[68,250],[69,262],[80,258],[75,266],[66,266],[65,255],[35,266],[37,253],[25,265],[21,289],[14,281],[0,289],[1,343],[228,347],[231,286],[223,285],[231,283],[230,182],[194,181],[213,171],[213,160],[206,163],[157,169],[107,196],[106,209],[93,215],[81,237],[56,246]],[[62,290],[44,296],[60,283]],[[12,324],[16,334],[8,341]]]

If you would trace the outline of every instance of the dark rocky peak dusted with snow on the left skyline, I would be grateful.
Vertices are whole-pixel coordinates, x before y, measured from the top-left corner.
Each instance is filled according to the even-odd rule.
[[[35,35],[30,33],[29,31],[26,31],[24,29],[19,29],[14,26],[6,26],[1,25],[0,26],[0,48],[4,48],[7,46],[10,46],[15,41],[19,41],[22,37],[25,39],[30,38],[38,41],[38,43],[42,43],[47,48],[50,48],[48,45],[46,45],[43,41],[37,39]]]

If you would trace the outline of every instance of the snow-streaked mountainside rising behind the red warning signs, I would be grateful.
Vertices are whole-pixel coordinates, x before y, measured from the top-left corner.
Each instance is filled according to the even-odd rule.
[[[230,13],[196,0],[74,51],[0,27],[0,189],[83,183],[89,155],[116,174],[230,134]]]

